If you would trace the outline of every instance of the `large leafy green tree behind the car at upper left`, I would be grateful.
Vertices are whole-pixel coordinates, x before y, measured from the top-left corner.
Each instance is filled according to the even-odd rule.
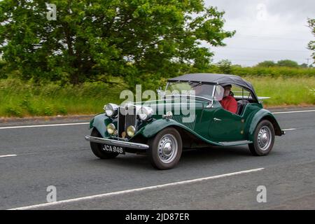
[[[0,2],[0,54],[22,78],[73,84],[109,76],[176,72],[174,64],[204,68],[235,31],[202,0],[40,0]],[[102,75],[102,76],[100,76]]]

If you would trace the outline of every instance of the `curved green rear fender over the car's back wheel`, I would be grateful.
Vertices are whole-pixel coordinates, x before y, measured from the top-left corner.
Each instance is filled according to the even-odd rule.
[[[248,130],[248,140],[253,141],[254,140],[254,133],[255,133],[255,128],[257,127],[258,123],[260,123],[260,120],[269,120],[272,125],[274,126],[274,132],[277,136],[281,136],[283,132],[281,132],[281,128],[279,123],[276,121],[276,118],[274,115],[266,110],[266,109],[261,109],[257,113],[255,113],[255,116],[253,116],[253,119],[251,120],[251,124],[249,126]]]

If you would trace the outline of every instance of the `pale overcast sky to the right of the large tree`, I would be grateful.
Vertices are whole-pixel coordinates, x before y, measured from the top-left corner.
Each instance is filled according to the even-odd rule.
[[[315,18],[314,0],[204,0],[224,10],[225,30],[236,30],[227,44],[211,48],[214,62],[230,59],[251,66],[264,60],[313,62],[307,43],[314,40],[307,18]]]

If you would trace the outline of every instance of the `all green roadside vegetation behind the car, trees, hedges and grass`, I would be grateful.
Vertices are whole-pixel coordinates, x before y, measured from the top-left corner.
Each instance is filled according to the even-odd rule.
[[[44,1],[0,1],[0,116],[99,113],[123,101],[121,90],[156,90],[167,78],[202,72],[250,80],[272,97],[266,106],[315,104],[309,64],[211,64],[213,47],[236,31],[223,29],[224,11],[202,0],[53,3],[56,18]],[[315,20],[308,23],[315,36]],[[314,41],[305,47],[315,61]]]

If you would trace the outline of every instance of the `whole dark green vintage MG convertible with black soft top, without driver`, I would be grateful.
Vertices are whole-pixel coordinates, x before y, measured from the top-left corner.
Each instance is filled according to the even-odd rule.
[[[231,85],[237,112],[223,109],[223,86]],[[276,136],[285,134],[263,109],[253,86],[234,75],[193,73],[170,78],[165,91],[146,102],[106,104],[90,122],[92,152],[111,159],[119,154],[147,154],[153,167],[171,169],[188,148],[248,145],[253,155],[267,155]]]

